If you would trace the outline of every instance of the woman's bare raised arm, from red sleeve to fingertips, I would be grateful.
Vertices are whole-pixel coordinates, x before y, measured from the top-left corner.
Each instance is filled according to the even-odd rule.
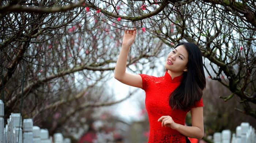
[[[122,43],[122,49],[120,51],[119,57],[116,62],[116,68],[114,73],[114,78],[116,78],[118,81],[142,88],[142,77],[138,74],[129,74],[126,73],[126,63],[127,63],[127,56],[129,49],[135,40],[136,37],[136,30],[125,30],[124,32],[124,38]]]

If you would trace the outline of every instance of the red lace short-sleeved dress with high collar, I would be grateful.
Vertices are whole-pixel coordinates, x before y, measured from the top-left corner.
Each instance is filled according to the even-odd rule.
[[[143,90],[146,92],[146,109],[150,124],[148,143],[186,143],[185,136],[169,127],[162,127],[157,120],[161,116],[171,116],[175,123],[184,125],[185,117],[190,110],[173,110],[169,105],[169,95],[180,85],[183,76],[173,80],[169,73],[163,77],[140,74],[143,82]],[[202,99],[195,102],[193,107],[203,106]],[[192,108],[193,108],[192,107]]]

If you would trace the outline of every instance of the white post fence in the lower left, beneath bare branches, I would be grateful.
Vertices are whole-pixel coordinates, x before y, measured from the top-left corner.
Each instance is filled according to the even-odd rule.
[[[32,119],[24,119],[20,113],[11,113],[4,127],[4,103],[0,100],[0,143],[71,143],[61,133],[49,136],[46,129],[33,125]]]

